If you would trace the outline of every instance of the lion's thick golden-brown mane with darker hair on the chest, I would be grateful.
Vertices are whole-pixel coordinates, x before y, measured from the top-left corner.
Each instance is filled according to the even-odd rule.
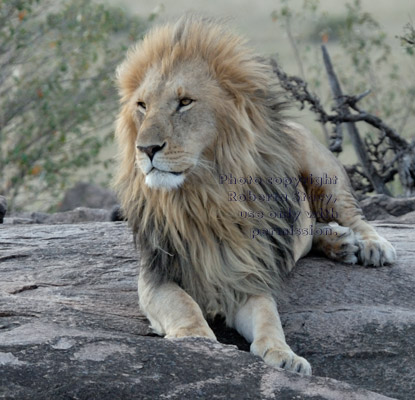
[[[189,60],[205,62],[224,92],[217,99],[217,136],[181,187],[151,189],[135,164],[132,96],[149,68],[169,75]],[[253,228],[291,227],[286,219],[268,216],[271,210],[299,210],[291,189],[266,180],[261,185],[219,183],[221,174],[298,174],[291,155],[296,144],[284,134],[285,104],[269,65],[220,23],[190,15],[150,31],[129,51],[117,81],[121,111],[116,138],[121,152],[116,188],[141,252],[141,273],[154,284],[177,282],[205,314],[227,317],[247,295],[278,289],[294,263],[293,237],[251,239],[250,233]],[[282,200],[231,202],[229,191],[277,194]],[[261,211],[264,217],[242,218],[240,213],[249,210]]]

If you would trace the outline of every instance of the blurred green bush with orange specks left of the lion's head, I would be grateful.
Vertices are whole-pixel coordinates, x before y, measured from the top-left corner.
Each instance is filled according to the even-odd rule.
[[[11,209],[51,209],[80,168],[108,167],[98,156],[118,107],[115,67],[145,28],[89,0],[0,1],[0,194]]]

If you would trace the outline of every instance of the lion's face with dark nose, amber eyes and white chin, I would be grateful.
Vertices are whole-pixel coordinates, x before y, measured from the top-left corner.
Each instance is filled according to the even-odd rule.
[[[203,163],[216,136],[219,87],[203,64],[188,64],[163,75],[152,67],[133,101],[136,161],[153,188],[175,189]]]

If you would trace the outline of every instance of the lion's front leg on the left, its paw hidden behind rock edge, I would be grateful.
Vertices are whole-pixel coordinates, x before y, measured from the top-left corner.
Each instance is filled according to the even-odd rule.
[[[177,284],[154,284],[142,272],[138,293],[140,307],[157,334],[169,339],[197,336],[216,340],[198,304]]]

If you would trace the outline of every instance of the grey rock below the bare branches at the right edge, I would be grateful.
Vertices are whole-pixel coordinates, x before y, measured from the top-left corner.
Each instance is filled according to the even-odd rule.
[[[415,197],[389,197],[376,194],[360,201],[363,213],[369,221],[399,217],[415,211]]]

